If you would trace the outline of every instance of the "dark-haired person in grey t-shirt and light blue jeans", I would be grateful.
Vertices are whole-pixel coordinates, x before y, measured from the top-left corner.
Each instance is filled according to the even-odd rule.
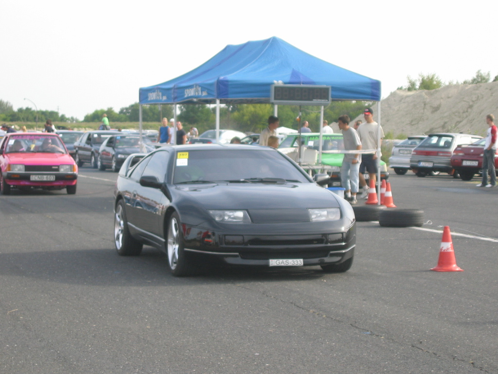
[[[339,129],[343,133],[344,149],[346,151],[360,151],[362,142],[357,131],[349,126],[350,118],[348,115],[339,117]],[[341,166],[341,185],[344,187],[346,200],[351,204],[356,204],[356,194],[359,191],[360,184],[360,164],[362,155],[360,153],[346,153]]]

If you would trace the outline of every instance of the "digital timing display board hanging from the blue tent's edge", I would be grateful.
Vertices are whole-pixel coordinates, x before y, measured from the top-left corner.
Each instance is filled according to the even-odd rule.
[[[272,84],[270,100],[274,104],[324,105],[330,103],[330,86]]]

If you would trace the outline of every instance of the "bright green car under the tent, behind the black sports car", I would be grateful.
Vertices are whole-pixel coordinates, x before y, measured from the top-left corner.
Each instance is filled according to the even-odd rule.
[[[297,162],[297,145],[299,144],[299,135],[290,134],[278,146],[278,150],[291,159]],[[320,149],[320,133],[305,133],[301,134],[301,143],[303,148],[302,156],[306,168],[313,173],[318,170],[316,160],[318,159],[318,151]],[[327,153],[327,151],[344,150],[343,135],[338,133],[322,134],[322,164],[328,166],[327,173],[330,175],[330,185],[341,186],[341,166],[344,159],[344,154]],[[365,174],[368,180],[368,173]],[[387,180],[389,173],[385,162],[380,161],[380,179]]]

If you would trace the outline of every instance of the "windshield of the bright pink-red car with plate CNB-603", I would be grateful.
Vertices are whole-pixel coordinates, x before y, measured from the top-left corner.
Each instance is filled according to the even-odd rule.
[[[6,153],[43,152],[66,153],[58,136],[15,135],[8,139]]]

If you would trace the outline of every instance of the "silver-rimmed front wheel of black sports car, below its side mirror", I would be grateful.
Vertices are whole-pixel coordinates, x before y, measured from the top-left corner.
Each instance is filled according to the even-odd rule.
[[[178,213],[173,212],[168,220],[166,252],[169,269],[175,277],[194,274],[194,264],[184,249],[185,241],[181,229],[180,217]]]

